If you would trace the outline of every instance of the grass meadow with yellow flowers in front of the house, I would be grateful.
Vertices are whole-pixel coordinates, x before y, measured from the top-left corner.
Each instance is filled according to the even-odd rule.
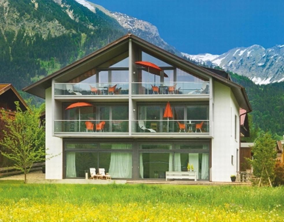
[[[0,221],[284,221],[284,187],[0,181]]]

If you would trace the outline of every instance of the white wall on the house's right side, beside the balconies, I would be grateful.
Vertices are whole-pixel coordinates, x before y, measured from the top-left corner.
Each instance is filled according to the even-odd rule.
[[[236,175],[237,149],[240,146],[239,105],[231,88],[214,82],[214,138],[212,138],[212,181],[231,181]],[[237,135],[235,139],[235,116],[237,117]],[[233,164],[232,164],[233,156]]]

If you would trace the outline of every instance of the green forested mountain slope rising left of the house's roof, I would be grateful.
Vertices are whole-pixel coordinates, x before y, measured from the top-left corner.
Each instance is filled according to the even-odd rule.
[[[0,12],[0,80],[18,90],[125,34],[73,0],[3,0]]]

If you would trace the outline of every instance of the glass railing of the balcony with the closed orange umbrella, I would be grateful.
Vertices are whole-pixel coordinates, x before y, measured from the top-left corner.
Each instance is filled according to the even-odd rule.
[[[134,120],[133,133],[209,133],[209,120]]]

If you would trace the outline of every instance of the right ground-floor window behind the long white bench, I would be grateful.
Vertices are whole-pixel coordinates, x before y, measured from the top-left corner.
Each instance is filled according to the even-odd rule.
[[[198,180],[209,180],[209,143],[139,145],[140,178],[166,178],[166,171],[187,171],[188,164],[193,166]]]

